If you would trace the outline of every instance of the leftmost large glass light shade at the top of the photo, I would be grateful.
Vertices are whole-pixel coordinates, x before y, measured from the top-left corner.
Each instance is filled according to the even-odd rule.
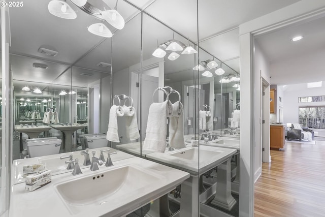
[[[76,12],[68,5],[68,3],[52,0],[48,5],[49,12],[54,16],[64,19],[76,19]]]

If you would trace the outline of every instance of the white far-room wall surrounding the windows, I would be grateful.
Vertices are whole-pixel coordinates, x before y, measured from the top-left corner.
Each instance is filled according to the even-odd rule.
[[[325,102],[312,102],[312,103],[298,103],[298,97],[311,97],[325,95],[325,81],[322,82],[322,87],[307,88],[305,84],[291,84],[284,85],[283,87],[283,122],[284,123],[298,123],[298,107],[322,105]]]

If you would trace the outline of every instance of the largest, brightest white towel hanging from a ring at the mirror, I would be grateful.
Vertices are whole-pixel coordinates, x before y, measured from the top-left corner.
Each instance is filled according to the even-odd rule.
[[[152,103],[149,107],[146,138],[143,149],[164,153],[166,150],[167,116],[173,111],[172,103]]]

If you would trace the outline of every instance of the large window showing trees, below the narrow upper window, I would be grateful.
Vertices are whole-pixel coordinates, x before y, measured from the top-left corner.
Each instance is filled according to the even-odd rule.
[[[325,129],[325,106],[299,107],[299,123],[303,127]]]

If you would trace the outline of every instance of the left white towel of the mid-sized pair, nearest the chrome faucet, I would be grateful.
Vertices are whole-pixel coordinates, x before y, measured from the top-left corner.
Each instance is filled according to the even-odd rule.
[[[108,121],[106,139],[111,142],[120,142],[117,132],[117,116],[123,116],[124,112],[119,108],[120,106],[113,105],[110,109],[110,119]]]

